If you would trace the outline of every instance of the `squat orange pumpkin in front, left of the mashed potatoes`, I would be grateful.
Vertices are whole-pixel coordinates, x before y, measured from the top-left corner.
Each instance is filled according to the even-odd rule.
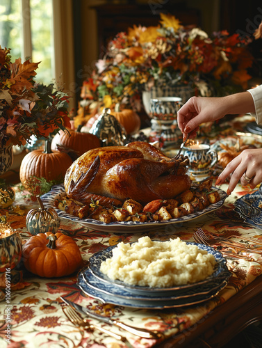
[[[24,266],[40,277],[69,276],[83,264],[79,247],[63,233],[40,233],[23,246]]]

